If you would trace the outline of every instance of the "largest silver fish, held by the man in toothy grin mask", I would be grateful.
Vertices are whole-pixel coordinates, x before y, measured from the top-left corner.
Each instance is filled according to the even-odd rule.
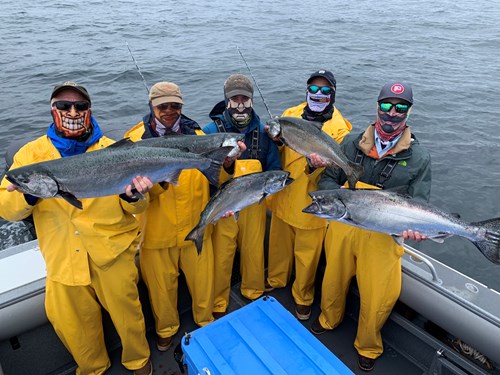
[[[77,208],[79,198],[118,195],[135,176],[177,184],[184,169],[198,169],[218,186],[220,168],[232,146],[203,154],[163,147],[140,147],[123,139],[106,148],[9,170],[19,191],[40,198],[61,197]]]

